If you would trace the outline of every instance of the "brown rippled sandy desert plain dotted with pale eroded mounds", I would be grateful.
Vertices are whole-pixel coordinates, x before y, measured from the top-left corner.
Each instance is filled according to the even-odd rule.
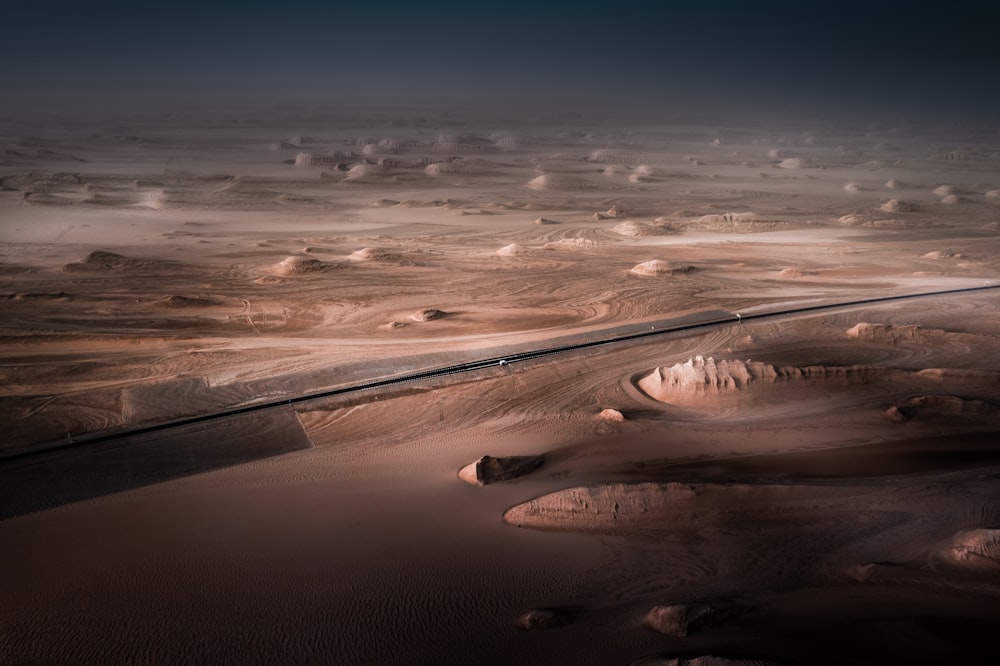
[[[483,118],[11,125],[0,663],[995,663],[993,290],[88,444],[1000,282],[996,128]]]

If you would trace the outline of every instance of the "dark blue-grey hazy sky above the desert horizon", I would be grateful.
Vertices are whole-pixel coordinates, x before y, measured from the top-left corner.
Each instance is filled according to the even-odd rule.
[[[0,86],[995,115],[1000,2],[0,0]]]

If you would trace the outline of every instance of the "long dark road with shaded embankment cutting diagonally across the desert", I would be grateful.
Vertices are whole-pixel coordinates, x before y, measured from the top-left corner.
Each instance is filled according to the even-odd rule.
[[[190,474],[261,460],[312,447],[296,421],[294,405],[349,398],[365,391],[416,384],[450,375],[502,369],[514,363],[655,336],[707,331],[734,323],[787,319],[800,315],[864,307],[919,298],[942,298],[1000,289],[984,285],[934,292],[866,298],[786,307],[780,310],[730,313],[696,312],[563,336],[555,344],[518,350],[500,349],[486,358],[353,383],[328,390],[270,400],[172,422],[96,433],[43,448],[12,452],[0,458],[0,487],[6,501],[0,520],[69,502],[158,483]],[[373,399],[377,400],[378,396]],[[367,401],[367,400],[366,400]]]

